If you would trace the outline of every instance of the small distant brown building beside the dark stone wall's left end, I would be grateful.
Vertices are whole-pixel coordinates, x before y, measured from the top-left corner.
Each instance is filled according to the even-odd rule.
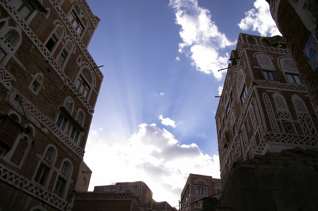
[[[203,199],[208,196],[220,198],[221,180],[211,176],[189,174],[181,192],[181,211],[203,210]]]

